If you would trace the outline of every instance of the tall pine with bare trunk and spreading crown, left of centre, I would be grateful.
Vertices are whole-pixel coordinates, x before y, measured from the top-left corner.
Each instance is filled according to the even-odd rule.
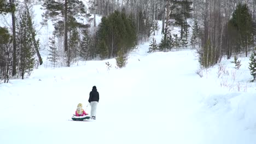
[[[45,9],[45,13],[43,14],[44,23],[47,23],[48,19],[51,18],[55,24],[62,25],[62,27],[57,27],[57,29],[64,31],[60,32],[60,34],[64,35],[64,51],[66,52],[67,66],[69,67],[72,60],[71,55],[72,53],[74,54],[71,49],[74,51],[74,47],[69,47],[72,46],[71,43],[68,45],[68,38],[71,38],[68,37],[68,31],[69,33],[72,31],[74,32],[74,27],[83,29],[88,28],[88,24],[84,25],[83,23],[78,22],[75,18],[78,18],[81,21],[84,19],[90,21],[89,17],[91,15],[86,13],[84,3],[79,0],[65,0],[65,2],[46,0],[44,1],[43,7]],[[62,19],[59,19],[59,17],[62,17]],[[71,40],[69,39],[69,41]]]

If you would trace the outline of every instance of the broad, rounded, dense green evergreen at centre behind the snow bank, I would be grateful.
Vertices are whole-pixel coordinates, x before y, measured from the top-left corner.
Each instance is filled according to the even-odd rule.
[[[97,54],[101,55],[105,52],[105,49],[99,47],[102,45],[100,43],[103,43],[102,40],[108,48],[108,57],[117,56],[120,50],[124,52],[131,50],[136,43],[135,30],[132,20],[125,13],[114,11],[108,17],[102,17],[96,35]]]

